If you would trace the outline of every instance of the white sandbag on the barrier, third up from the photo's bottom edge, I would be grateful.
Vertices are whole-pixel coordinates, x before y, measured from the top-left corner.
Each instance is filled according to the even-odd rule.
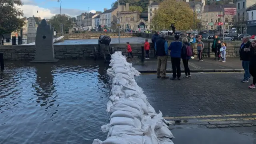
[[[110,126],[133,126],[134,128],[141,128],[140,120],[137,118],[114,117],[110,119]]]

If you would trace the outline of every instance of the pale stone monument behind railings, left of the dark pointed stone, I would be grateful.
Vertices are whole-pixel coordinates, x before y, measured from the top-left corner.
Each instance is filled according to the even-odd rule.
[[[36,38],[36,21],[33,17],[28,18],[27,44],[35,42]]]

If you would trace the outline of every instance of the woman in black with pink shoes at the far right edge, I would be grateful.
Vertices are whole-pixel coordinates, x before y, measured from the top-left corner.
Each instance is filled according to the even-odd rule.
[[[253,77],[253,82],[249,88],[256,88],[256,40],[253,40],[249,48],[244,48],[244,51],[249,53],[249,72]]]

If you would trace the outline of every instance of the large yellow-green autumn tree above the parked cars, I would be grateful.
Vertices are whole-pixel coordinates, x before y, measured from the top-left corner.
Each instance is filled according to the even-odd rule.
[[[198,22],[195,17],[195,24]],[[170,29],[174,24],[176,30],[189,30],[193,28],[193,10],[185,2],[176,2],[176,0],[165,0],[158,6],[154,12],[151,26],[155,30]]]

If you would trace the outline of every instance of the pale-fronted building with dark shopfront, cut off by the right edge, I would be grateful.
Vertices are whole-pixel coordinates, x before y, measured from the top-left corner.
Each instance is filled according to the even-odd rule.
[[[250,35],[256,34],[256,4],[246,10],[247,15],[247,33]]]

